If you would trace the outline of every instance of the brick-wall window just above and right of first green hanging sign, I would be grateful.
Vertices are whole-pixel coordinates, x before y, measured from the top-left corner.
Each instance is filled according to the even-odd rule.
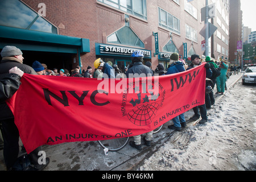
[[[167,28],[177,34],[180,34],[180,20],[177,19],[174,15],[167,13],[167,11],[160,9],[160,7],[158,7],[158,12],[159,12],[159,19],[158,19],[159,26]]]

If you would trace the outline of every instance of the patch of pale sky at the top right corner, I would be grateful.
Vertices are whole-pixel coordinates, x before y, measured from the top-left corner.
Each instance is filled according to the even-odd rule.
[[[241,10],[243,11],[243,26],[251,28],[252,32],[256,31],[256,0],[241,0]]]

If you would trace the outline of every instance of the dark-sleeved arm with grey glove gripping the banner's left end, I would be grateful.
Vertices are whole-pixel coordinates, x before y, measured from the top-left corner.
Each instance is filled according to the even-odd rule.
[[[19,89],[21,84],[20,78],[23,76],[23,71],[14,67],[9,70],[9,75],[0,80],[0,102],[4,102],[11,98],[13,94]]]

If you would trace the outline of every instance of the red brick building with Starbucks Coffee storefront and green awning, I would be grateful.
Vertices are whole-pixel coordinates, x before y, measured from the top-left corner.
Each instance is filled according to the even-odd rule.
[[[224,5],[223,1],[219,2]],[[188,61],[193,53],[203,56],[201,41],[204,38],[199,32],[204,26],[200,18],[204,0],[189,3],[187,0],[3,0],[1,3],[2,9],[10,8],[10,4],[10,11],[18,9],[15,13],[2,11],[1,17],[31,19],[24,27],[17,25],[22,20],[11,20],[13,24],[3,22],[5,18],[0,20],[3,32],[0,49],[10,44],[19,47],[28,65],[38,60],[49,69],[70,71],[76,65],[82,65],[82,69],[88,65],[93,67],[94,60],[102,57],[123,68],[130,64],[130,53],[134,49],[145,52],[144,61],[151,61],[152,69],[158,63],[167,67],[172,52],[184,58],[184,48]],[[35,18],[38,13],[41,16]],[[44,30],[46,27],[48,30]],[[155,55],[153,32],[158,33],[158,55]],[[217,46],[213,41],[214,55]]]

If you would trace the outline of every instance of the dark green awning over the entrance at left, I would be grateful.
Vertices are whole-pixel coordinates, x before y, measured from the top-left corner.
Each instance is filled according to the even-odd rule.
[[[89,39],[0,26],[0,48],[16,46],[24,51],[90,52]]]

